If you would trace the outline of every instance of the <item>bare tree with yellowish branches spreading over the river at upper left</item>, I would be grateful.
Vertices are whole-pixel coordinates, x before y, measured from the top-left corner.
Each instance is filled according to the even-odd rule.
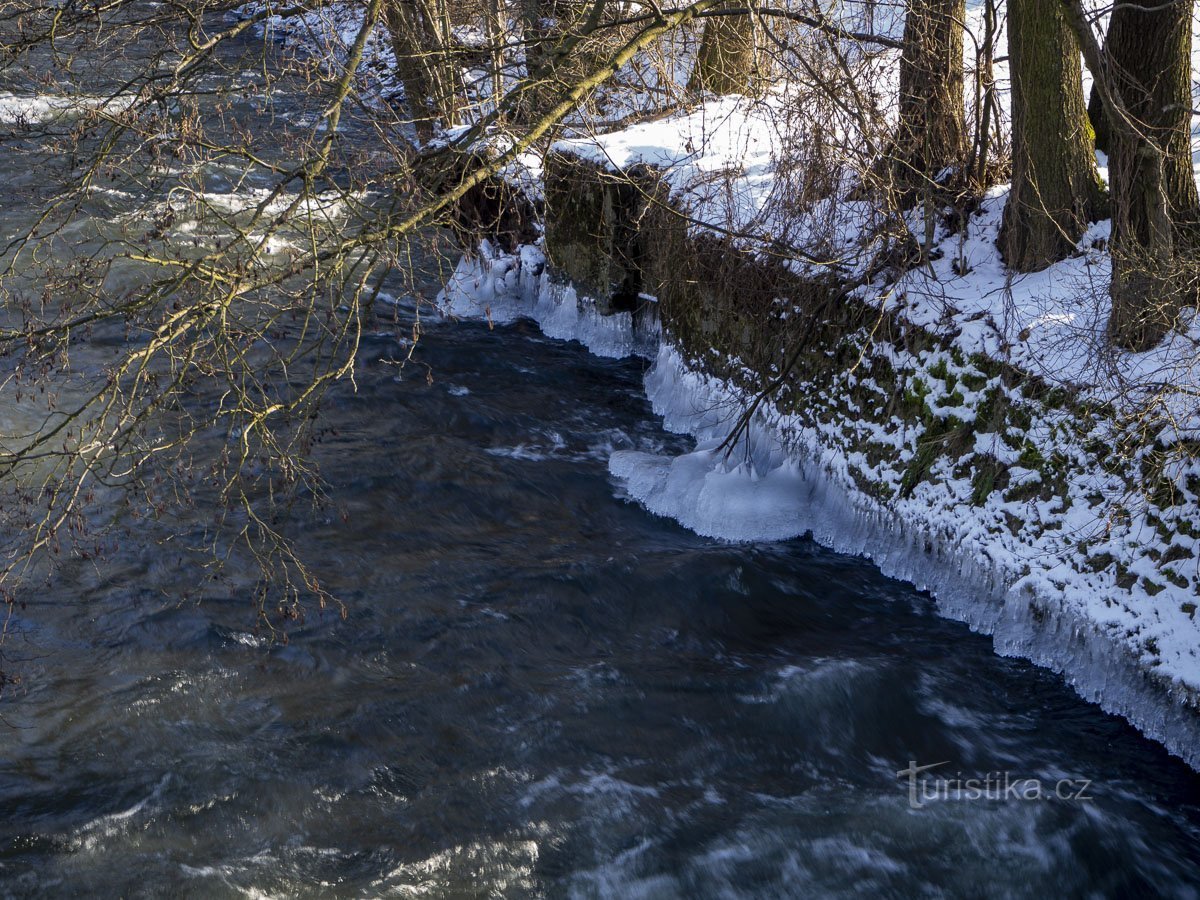
[[[510,79],[468,106],[494,72],[470,80],[432,0],[0,0],[4,88],[30,98],[0,116],[0,143],[37,175],[6,198],[19,228],[0,245],[0,596],[102,553],[116,518],[204,503],[215,524],[191,546],[257,560],[264,626],[334,602],[281,509],[324,497],[308,455],[322,397],[353,376],[364,331],[388,326],[384,283],[419,293],[413,260],[444,257],[438,227],[461,204],[718,2],[590,5],[553,46],[569,66],[550,89]],[[481,59],[520,72],[503,18]],[[306,40],[251,40],[268,26]],[[370,65],[380,42],[396,72]],[[379,91],[392,77],[407,110]],[[425,140],[456,121],[457,140]],[[352,124],[371,139],[347,140]],[[128,204],[114,222],[90,212],[106,197]]]

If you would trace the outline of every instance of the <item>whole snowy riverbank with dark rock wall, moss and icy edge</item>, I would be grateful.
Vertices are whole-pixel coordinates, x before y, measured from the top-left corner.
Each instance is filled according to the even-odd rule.
[[[878,247],[862,240],[868,210],[844,204],[838,220],[857,227],[836,230],[827,256],[840,254],[844,283],[862,283],[836,298],[832,326],[815,328],[830,298],[809,260],[749,250],[778,209],[769,142],[762,160],[739,145],[762,133],[745,128],[751,115],[726,100],[560,142],[546,166],[544,246],[485,246],[460,265],[444,311],[528,316],[602,355],[653,359],[647,392],[697,449],[613,455],[613,475],[647,509],[710,536],[811,534],[866,556],[990,634],[998,653],[1062,673],[1200,764],[1196,466],[1184,436],[1163,433],[1190,414],[1176,376],[1195,326],[1148,354],[1098,354],[1108,223],[1075,257],[1014,277],[994,246],[1001,187],[965,228],[938,227],[928,265],[877,274]],[[724,196],[710,191],[734,156],[742,174],[722,180]],[[572,198],[565,218],[586,223],[576,240],[554,223],[556,172],[574,185],[558,191]],[[623,209],[613,185],[629,181],[641,187]],[[662,209],[685,222],[665,246]],[[632,221],[641,228],[616,227]],[[635,257],[641,296],[614,308]],[[565,283],[564,271],[590,283]]]

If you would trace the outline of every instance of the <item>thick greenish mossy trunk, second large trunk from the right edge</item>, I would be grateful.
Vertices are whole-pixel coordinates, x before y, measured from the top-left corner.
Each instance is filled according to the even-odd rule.
[[[1001,253],[1022,272],[1070,253],[1100,204],[1079,44],[1057,4],[1009,0],[1013,188]]]

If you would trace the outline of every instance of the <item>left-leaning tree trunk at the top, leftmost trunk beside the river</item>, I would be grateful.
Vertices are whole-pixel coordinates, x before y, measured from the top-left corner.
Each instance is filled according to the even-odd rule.
[[[450,44],[442,0],[389,0],[384,20],[396,54],[416,137],[427,142],[438,125],[455,125],[462,76]]]

